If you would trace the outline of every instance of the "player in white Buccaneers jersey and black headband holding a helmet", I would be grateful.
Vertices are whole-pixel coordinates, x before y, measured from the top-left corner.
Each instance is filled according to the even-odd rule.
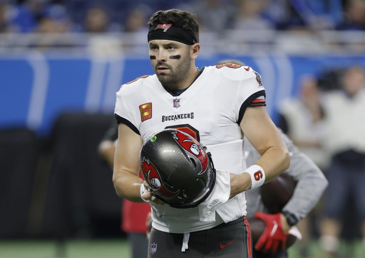
[[[123,84],[117,92],[116,192],[151,204],[149,257],[252,257],[244,192],[277,177],[290,163],[288,149],[264,107],[261,77],[252,68],[235,64],[196,68],[199,25],[189,12],[158,11],[149,26],[155,74]],[[143,141],[165,128],[190,134],[211,152],[216,185],[224,186],[218,190],[225,194],[205,209],[172,208],[138,177]],[[250,167],[245,163],[243,135],[261,155]],[[180,183],[189,187],[189,182]]]

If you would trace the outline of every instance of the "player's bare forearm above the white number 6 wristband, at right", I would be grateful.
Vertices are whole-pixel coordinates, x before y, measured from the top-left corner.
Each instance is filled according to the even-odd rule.
[[[290,164],[288,148],[285,145],[268,148],[256,164],[264,169],[265,183],[268,183],[288,169]]]

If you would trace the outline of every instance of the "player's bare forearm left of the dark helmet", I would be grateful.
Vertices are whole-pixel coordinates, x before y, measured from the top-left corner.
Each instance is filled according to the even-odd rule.
[[[119,197],[132,202],[143,202],[141,198],[141,185],[143,180],[128,171],[114,173],[113,183]]]

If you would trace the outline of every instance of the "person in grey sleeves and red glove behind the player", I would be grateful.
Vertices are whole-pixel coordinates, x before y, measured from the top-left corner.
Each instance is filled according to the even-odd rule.
[[[233,59],[219,61],[217,65],[226,63],[245,65],[243,62]],[[290,166],[284,171],[284,174],[292,177],[297,183],[293,196],[284,206],[282,212],[274,215],[268,214],[268,209],[262,203],[260,188],[246,191],[247,217],[256,216],[266,223],[266,230],[254,246],[253,256],[258,258],[288,257],[285,241],[289,229],[308,215],[328,185],[328,181],[319,167],[302,153],[282,130],[279,129],[279,132],[288,147],[291,158]],[[260,154],[247,139],[245,140],[246,164],[250,166],[255,164],[260,158]],[[271,234],[275,223],[278,224],[278,228],[274,234]]]

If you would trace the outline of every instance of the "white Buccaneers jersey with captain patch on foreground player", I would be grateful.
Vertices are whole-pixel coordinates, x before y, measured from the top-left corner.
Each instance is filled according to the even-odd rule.
[[[115,114],[145,140],[165,128],[189,133],[212,154],[217,178],[228,171],[246,169],[243,134],[239,127],[246,107],[264,102],[260,75],[250,67],[203,67],[191,86],[171,95],[156,75],[123,84],[117,92]],[[200,221],[198,208],[177,209],[151,203],[153,227],[164,232],[187,233],[215,227],[246,215],[245,194],[228,200],[216,210],[213,221]]]

